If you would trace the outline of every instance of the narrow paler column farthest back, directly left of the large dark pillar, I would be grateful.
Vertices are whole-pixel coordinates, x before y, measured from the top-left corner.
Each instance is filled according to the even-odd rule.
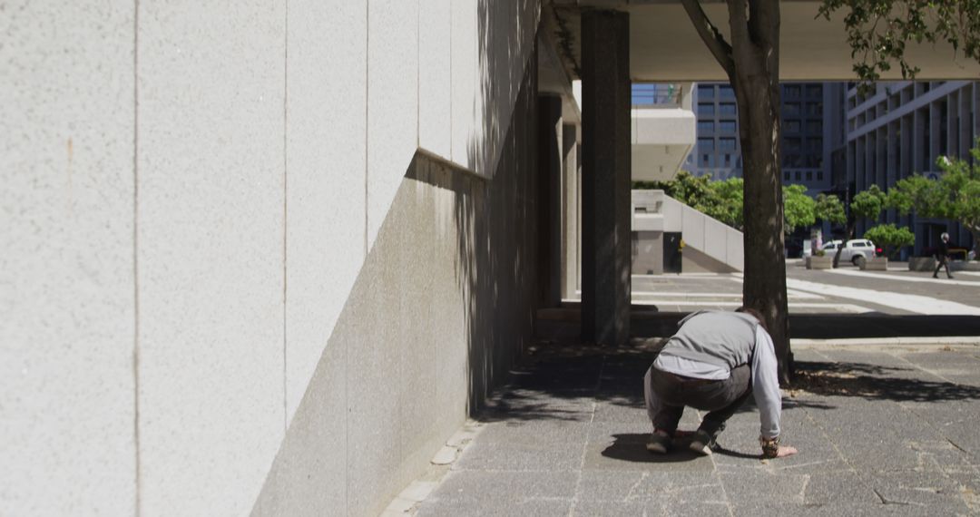
[[[578,129],[562,128],[562,296],[575,298],[578,287]]]

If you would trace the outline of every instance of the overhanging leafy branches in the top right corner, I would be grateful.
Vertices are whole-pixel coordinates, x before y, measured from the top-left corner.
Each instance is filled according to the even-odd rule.
[[[826,20],[844,11],[859,93],[898,64],[902,77],[915,78],[918,67],[906,60],[906,44],[950,43],[958,54],[980,62],[980,0],[823,0]]]

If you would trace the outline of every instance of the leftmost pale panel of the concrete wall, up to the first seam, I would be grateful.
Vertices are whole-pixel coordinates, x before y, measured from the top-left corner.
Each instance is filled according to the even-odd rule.
[[[0,4],[0,515],[136,507],[133,20]]]

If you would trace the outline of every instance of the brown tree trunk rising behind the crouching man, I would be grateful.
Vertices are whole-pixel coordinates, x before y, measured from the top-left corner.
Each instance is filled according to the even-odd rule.
[[[744,304],[759,310],[779,360],[779,379],[793,371],[780,138],[779,2],[728,0],[739,137],[745,178]],[[746,16],[748,15],[748,17]]]

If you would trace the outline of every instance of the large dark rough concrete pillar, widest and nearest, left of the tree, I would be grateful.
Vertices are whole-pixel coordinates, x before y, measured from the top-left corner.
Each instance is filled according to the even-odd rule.
[[[629,338],[629,15],[582,13],[582,336]]]

